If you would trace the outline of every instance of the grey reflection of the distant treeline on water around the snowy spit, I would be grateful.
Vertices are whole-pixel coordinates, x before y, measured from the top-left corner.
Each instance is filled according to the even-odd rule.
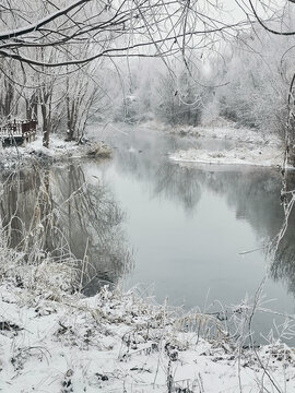
[[[214,148],[224,148],[229,143],[211,142]],[[167,158],[168,152],[203,147],[204,143],[203,140],[179,139],[150,130],[131,130],[128,136],[116,135],[119,146],[115,157],[116,170],[149,183],[151,198],[174,200],[188,211],[197,207],[206,191],[222,195],[236,211],[237,219],[246,219],[258,238],[271,239],[283,221],[280,171],[249,166],[177,164]]]

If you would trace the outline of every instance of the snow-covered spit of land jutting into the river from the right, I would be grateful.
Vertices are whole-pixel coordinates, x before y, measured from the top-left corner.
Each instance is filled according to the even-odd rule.
[[[201,140],[226,140],[233,147],[222,150],[189,148],[169,155],[172,160],[199,164],[281,166],[283,150],[275,135],[235,128],[184,128],[176,132]]]

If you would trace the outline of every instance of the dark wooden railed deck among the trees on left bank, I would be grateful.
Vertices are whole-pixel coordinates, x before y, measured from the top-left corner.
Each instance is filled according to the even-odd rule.
[[[35,141],[36,120],[12,120],[0,127],[0,140],[4,146],[22,145]]]

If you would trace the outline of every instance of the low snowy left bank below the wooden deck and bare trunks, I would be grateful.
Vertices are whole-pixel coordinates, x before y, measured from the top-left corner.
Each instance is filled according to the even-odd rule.
[[[74,158],[109,158],[111,150],[103,142],[90,141],[86,144],[66,142],[57,135],[50,136],[49,147],[43,146],[42,136],[26,146],[9,146],[0,148],[0,168],[12,170],[33,164],[42,166]]]

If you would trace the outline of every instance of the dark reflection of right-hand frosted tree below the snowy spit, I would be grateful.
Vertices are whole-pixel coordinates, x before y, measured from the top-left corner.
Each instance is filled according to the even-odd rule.
[[[273,242],[283,224],[283,207],[280,205],[281,177],[272,170],[250,170],[248,172],[214,172],[206,184],[216,193],[226,195],[229,205],[236,210],[238,218],[246,219],[267,245],[272,245],[270,254],[270,275],[274,281],[282,281],[295,295],[295,212],[293,211],[287,230],[274,251]],[[295,188],[295,176],[293,180]],[[290,186],[292,188],[292,184]],[[266,248],[266,251],[269,249]]]

